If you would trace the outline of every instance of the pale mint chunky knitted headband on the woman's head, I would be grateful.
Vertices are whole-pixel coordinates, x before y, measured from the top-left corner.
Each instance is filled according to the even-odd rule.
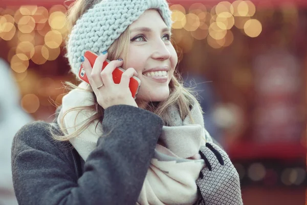
[[[72,72],[78,76],[79,58],[86,50],[97,54],[107,50],[147,9],[157,9],[171,29],[171,11],[166,0],[102,0],[87,10],[69,35],[67,57]]]

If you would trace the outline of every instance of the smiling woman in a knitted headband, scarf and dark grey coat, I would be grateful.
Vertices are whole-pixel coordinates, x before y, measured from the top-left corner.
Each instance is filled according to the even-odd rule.
[[[55,124],[16,134],[19,204],[243,204],[236,170],[174,75],[170,14],[165,0],[75,2],[67,57],[77,76],[83,64],[90,85],[63,97]],[[93,68],[86,50],[100,54]],[[126,69],[120,84],[116,67]],[[136,99],[133,75],[141,80]]]

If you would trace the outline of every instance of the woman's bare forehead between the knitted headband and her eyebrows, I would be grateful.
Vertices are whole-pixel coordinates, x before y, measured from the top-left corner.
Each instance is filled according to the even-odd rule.
[[[150,28],[161,28],[166,27],[163,18],[156,9],[146,10],[134,23],[130,25],[130,29],[137,27],[150,27]]]

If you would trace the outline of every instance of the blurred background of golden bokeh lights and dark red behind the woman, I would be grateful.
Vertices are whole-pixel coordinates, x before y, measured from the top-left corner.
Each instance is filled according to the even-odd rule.
[[[63,57],[72,2],[0,2],[1,205],[17,204],[15,132],[32,120],[51,122],[63,82],[78,83]],[[178,70],[234,162],[244,204],[307,204],[307,1],[169,2]]]

